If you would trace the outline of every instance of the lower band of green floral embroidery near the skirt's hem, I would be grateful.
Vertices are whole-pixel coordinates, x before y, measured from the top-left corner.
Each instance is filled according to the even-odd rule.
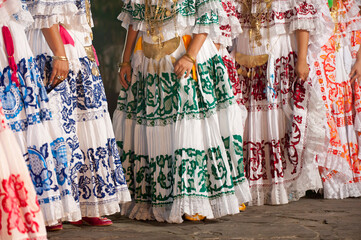
[[[237,139],[242,139],[241,136],[231,138],[234,145],[242,145],[242,142],[237,142]],[[123,146],[123,143],[118,142],[118,146]],[[226,148],[226,152],[221,149],[220,146],[207,151],[182,148],[176,150],[173,156],[159,155],[153,158],[136,155],[133,151],[123,153],[124,172],[133,199],[135,202],[165,205],[184,196],[213,199],[233,194],[234,183],[238,179],[232,180],[231,171],[224,162],[225,154],[229,156],[229,148]],[[241,166],[235,168],[243,169],[242,154],[237,156],[240,157],[238,162]]]

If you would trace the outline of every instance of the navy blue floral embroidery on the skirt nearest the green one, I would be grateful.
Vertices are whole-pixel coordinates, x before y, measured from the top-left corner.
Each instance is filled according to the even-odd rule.
[[[36,59],[44,68],[41,76],[48,77],[51,59],[45,55]],[[69,164],[71,188],[76,201],[84,202],[114,196],[119,187],[126,186],[126,180],[114,138],[107,138],[102,146],[80,148],[77,122],[102,119],[108,112],[102,79],[92,75],[95,63],[87,57],[79,60],[80,71],[71,70],[67,80],[52,89],[49,96],[61,99],[57,101],[61,103],[58,121],[66,132],[65,141],[72,152]]]

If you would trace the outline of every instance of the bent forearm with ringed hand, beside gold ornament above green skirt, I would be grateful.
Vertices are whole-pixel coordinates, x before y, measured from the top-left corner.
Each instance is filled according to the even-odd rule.
[[[192,41],[189,43],[187,53],[183,55],[174,65],[174,72],[178,78],[186,73],[185,77],[188,77],[193,67],[193,60],[197,58],[198,52],[201,49],[204,41],[207,38],[206,33],[194,34]]]

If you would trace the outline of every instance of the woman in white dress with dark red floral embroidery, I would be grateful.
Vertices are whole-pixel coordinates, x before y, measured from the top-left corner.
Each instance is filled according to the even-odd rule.
[[[253,205],[285,204],[322,188],[325,109],[314,94],[310,52],[327,41],[323,0],[239,0],[234,46],[240,104],[248,110],[244,151]]]

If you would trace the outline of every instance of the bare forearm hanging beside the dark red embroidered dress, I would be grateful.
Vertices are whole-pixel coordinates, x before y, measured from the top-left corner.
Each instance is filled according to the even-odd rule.
[[[298,78],[306,81],[310,72],[307,64],[307,51],[308,51],[308,40],[309,33],[305,30],[296,31],[297,38],[297,63],[296,63],[296,74]]]

